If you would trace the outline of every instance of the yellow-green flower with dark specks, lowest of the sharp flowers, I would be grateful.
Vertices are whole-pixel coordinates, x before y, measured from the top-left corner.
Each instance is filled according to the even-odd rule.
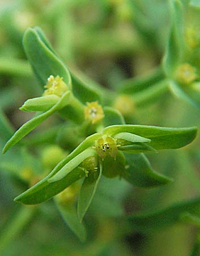
[[[105,156],[110,155],[116,159],[117,155],[117,139],[110,137],[109,135],[103,135],[97,141],[95,141],[95,149],[97,154],[104,160]]]

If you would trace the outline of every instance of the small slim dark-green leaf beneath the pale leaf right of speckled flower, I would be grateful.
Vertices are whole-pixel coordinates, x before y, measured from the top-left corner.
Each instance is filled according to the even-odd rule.
[[[157,152],[155,150],[155,148],[149,146],[146,143],[143,142],[138,142],[138,143],[134,143],[134,144],[130,144],[130,145],[125,145],[125,146],[120,146],[118,147],[118,150],[121,151],[125,151],[126,153],[142,153],[142,152],[146,152],[146,151],[154,151]]]

